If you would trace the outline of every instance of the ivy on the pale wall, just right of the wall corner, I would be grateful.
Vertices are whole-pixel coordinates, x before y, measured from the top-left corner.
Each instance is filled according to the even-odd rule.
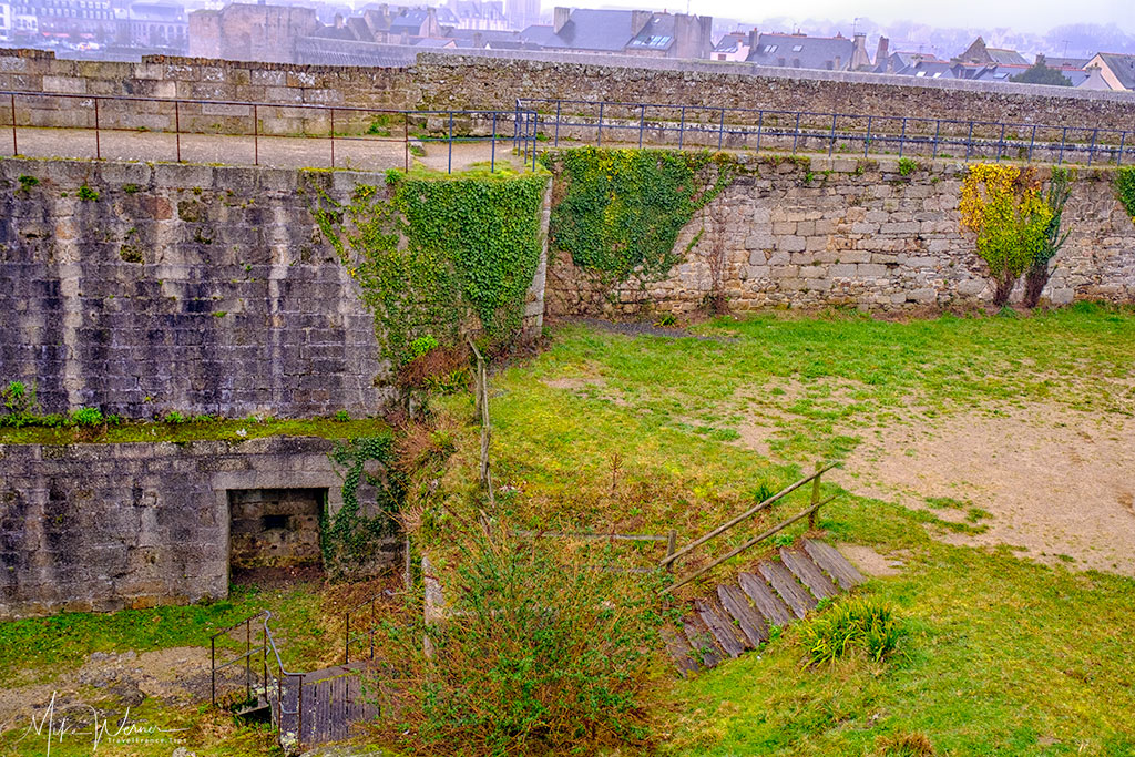
[[[608,284],[664,277],[681,256],[679,232],[737,174],[731,157],[709,151],[581,148],[541,160],[560,183],[552,244]]]

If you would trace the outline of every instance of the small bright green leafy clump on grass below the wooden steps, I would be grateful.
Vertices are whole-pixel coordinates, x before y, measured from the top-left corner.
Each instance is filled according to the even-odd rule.
[[[808,666],[855,653],[882,662],[899,645],[902,626],[890,608],[868,598],[847,599],[801,626]]]

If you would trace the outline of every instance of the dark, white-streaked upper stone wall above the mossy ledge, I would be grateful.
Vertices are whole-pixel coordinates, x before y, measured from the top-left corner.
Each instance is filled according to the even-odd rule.
[[[373,317],[301,184],[345,200],[382,180],[0,161],[0,381],[48,412],[379,412]]]

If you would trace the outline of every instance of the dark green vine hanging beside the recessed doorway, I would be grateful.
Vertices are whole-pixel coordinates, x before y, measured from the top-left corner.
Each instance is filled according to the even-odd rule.
[[[322,514],[320,546],[328,565],[345,567],[365,562],[372,556],[375,539],[397,530],[394,516],[404,497],[405,482],[390,464],[394,457],[394,437],[390,434],[337,443],[329,457],[345,468],[343,506],[334,515]],[[379,463],[380,476],[367,473],[370,461]],[[359,502],[359,487],[363,482],[371,485],[376,493],[371,515],[363,514]]]

